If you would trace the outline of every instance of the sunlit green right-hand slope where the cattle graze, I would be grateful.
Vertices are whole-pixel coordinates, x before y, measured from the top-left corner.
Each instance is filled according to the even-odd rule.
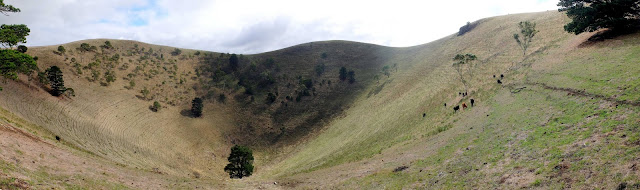
[[[523,20],[537,22],[541,31],[524,60],[511,38]],[[632,167],[640,150],[638,107],[615,108],[618,103],[607,99],[638,102],[640,35],[585,47],[580,44],[591,34],[565,33],[562,25],[568,19],[556,12],[481,22],[462,37],[405,48],[396,60],[405,63],[401,71],[378,95],[361,95],[346,117],[272,167],[272,174],[303,186],[337,181],[330,186],[343,188],[614,188],[639,183]],[[481,60],[471,95],[480,103],[453,115],[442,104],[460,100],[461,85],[450,67],[457,53],[474,53]],[[420,56],[427,59],[411,59]],[[507,76],[504,87],[492,78],[500,73]],[[539,83],[586,89],[587,96],[567,96],[567,91]],[[399,166],[409,169],[393,172]]]

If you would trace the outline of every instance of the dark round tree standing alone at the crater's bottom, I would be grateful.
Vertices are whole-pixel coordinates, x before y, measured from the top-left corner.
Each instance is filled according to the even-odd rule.
[[[227,160],[229,164],[224,167],[224,171],[229,173],[230,178],[243,178],[253,174],[253,152],[248,147],[233,146]]]

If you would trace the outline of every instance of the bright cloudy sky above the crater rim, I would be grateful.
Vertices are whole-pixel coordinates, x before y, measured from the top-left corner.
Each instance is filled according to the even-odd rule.
[[[27,46],[84,39],[136,40],[253,54],[324,40],[420,45],[468,21],[557,10],[558,0],[4,0],[22,12]]]

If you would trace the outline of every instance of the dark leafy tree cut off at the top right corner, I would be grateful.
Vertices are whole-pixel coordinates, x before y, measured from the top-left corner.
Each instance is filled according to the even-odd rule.
[[[558,6],[558,11],[566,11],[572,19],[564,30],[576,35],[602,28],[626,31],[637,27],[640,21],[637,0],[560,0]]]

